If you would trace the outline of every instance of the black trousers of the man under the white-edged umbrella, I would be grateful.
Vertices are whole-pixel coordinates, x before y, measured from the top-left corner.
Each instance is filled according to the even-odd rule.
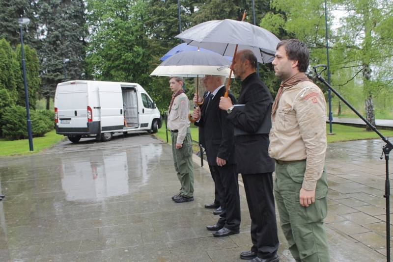
[[[236,165],[211,166],[216,175],[216,186],[220,196],[220,205],[223,212],[217,225],[230,230],[240,227],[240,195]]]

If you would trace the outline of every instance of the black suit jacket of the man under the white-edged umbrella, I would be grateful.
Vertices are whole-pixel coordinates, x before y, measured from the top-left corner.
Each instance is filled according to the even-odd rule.
[[[203,108],[202,116],[197,124],[202,127],[205,138],[205,150],[209,165],[217,165],[216,157],[226,160],[227,164],[235,163],[235,144],[233,136],[233,125],[228,122],[225,110],[219,108],[220,97],[225,94],[225,86],[220,88],[214,98]],[[232,103],[236,99],[229,94]]]

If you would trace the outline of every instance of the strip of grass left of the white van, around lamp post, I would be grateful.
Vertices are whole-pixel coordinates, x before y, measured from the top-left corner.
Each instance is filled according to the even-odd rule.
[[[55,130],[46,133],[43,137],[33,137],[33,152],[29,151],[28,139],[11,141],[0,138],[0,156],[38,153],[57,144],[63,138],[64,136],[56,134]]]

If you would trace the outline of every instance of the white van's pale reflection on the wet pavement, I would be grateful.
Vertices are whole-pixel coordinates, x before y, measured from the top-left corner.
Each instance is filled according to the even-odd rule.
[[[102,201],[129,194],[149,181],[150,169],[159,165],[161,154],[161,145],[150,144],[62,159],[61,186],[66,200]]]

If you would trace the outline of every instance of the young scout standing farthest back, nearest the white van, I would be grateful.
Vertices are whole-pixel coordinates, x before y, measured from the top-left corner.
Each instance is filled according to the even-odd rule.
[[[183,78],[169,79],[173,91],[168,111],[168,129],[172,139],[173,163],[180,181],[179,193],[172,197],[177,203],[194,201],[193,148],[190,131],[190,102],[183,92]]]

